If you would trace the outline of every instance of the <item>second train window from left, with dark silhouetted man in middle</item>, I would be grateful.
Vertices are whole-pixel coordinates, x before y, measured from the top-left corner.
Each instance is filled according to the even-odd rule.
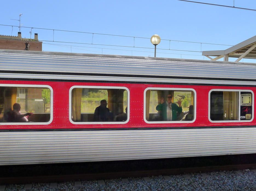
[[[127,123],[129,95],[125,87],[73,86],[70,121],[74,124]]]

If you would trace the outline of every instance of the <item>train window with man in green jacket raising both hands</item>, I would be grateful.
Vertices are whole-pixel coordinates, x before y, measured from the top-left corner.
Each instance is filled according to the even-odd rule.
[[[189,88],[146,88],[144,120],[147,123],[195,121],[195,91]]]

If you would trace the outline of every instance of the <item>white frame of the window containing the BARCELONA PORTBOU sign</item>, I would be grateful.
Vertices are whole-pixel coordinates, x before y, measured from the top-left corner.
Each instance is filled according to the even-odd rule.
[[[213,91],[236,91],[238,92],[238,120],[220,120],[220,121],[213,121],[211,120],[211,117],[210,117],[210,112],[211,112],[211,92]],[[251,120],[240,120],[240,110],[241,110],[241,100],[240,100],[240,97],[241,97],[241,92],[243,91],[247,91],[247,92],[251,92],[252,93],[252,119]],[[208,120],[211,122],[211,123],[247,123],[247,122],[251,122],[254,118],[254,93],[251,89],[211,89],[209,91],[209,94],[208,94]]]

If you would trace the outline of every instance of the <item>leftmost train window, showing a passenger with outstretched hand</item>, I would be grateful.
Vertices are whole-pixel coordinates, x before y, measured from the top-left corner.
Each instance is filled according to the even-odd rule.
[[[51,121],[50,86],[0,84],[1,124],[49,124]]]

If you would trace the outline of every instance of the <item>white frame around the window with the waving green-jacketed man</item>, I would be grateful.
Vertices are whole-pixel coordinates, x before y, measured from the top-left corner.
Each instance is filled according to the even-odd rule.
[[[148,90],[174,90],[174,91],[193,91],[194,92],[194,119],[192,121],[147,121],[146,120],[146,91]],[[149,124],[162,124],[162,123],[193,123],[196,120],[196,91],[193,88],[146,88],[144,90],[144,121]]]

